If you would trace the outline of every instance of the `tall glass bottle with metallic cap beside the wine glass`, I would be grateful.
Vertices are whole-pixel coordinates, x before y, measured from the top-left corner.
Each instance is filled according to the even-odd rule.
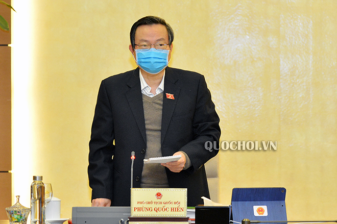
[[[42,176],[33,176],[31,185],[31,224],[44,224],[44,184]]]

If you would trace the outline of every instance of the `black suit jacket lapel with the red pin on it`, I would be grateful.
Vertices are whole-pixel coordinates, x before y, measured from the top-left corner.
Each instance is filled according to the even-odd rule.
[[[170,125],[170,121],[172,119],[172,115],[179,98],[180,87],[176,86],[175,84],[177,81],[177,74],[173,73],[172,70],[167,67],[165,70],[164,81],[163,113],[161,120],[161,143],[163,143],[168,125]],[[172,99],[172,97],[170,96],[166,96],[166,93],[173,94],[174,99]]]

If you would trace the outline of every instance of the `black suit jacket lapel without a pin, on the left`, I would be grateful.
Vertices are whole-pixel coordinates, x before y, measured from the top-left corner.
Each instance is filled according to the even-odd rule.
[[[126,92],[126,97],[133,116],[137,122],[138,129],[143,137],[144,142],[146,143],[145,118],[143,100],[140,90],[139,68],[136,68],[133,71],[133,74],[127,82],[127,85],[130,87],[130,89]]]

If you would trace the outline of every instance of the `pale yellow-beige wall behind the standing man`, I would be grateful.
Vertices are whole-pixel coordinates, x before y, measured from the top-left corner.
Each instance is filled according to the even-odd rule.
[[[28,27],[14,31],[12,47],[15,194],[29,198],[32,176],[42,175],[62,217],[90,206],[100,81],[135,68],[129,30],[152,14],[174,29],[170,66],[205,75],[221,139],[277,142],[276,151],[220,152],[220,202],[230,204],[234,187],[285,187],[288,219],[335,219],[337,1],[12,1],[14,30]]]

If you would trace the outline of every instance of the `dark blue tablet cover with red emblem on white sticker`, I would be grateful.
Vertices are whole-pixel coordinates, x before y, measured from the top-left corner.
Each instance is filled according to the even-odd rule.
[[[285,188],[233,188],[233,221],[286,221]],[[279,222],[284,223],[284,222]]]

